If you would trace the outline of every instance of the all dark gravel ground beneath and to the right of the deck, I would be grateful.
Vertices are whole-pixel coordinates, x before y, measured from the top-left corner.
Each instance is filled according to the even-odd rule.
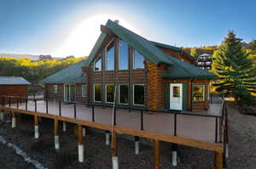
[[[256,168],[256,117],[241,115],[229,105],[230,112],[230,168]],[[48,168],[112,168],[111,147],[105,145],[105,135],[88,131],[84,138],[84,162],[78,161],[77,137],[73,124],[67,125],[67,132],[60,132],[61,150],[54,149],[54,122],[42,119],[40,124],[40,139],[33,138],[33,121],[27,118],[18,120],[17,127],[11,129],[10,123],[0,123],[0,135],[10,143],[15,143],[25,150],[33,159]],[[60,126],[61,129],[61,126]],[[118,138],[119,168],[121,169],[151,169],[153,168],[154,149],[141,144],[140,155],[134,154],[134,143],[125,138]],[[172,166],[172,144],[161,143],[162,169],[211,169],[213,168],[213,153],[203,149],[178,146],[179,162]],[[15,151],[0,144],[0,168],[33,168],[26,164]],[[9,162],[8,162],[9,161]],[[26,166],[27,165],[27,166]]]

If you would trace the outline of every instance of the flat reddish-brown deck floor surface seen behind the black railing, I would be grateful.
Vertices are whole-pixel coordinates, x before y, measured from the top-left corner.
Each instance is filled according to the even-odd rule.
[[[6,105],[9,106],[9,105]],[[11,104],[11,108],[16,108],[16,104]],[[212,104],[207,111],[195,112],[202,115],[218,115],[220,104]],[[19,104],[19,110],[26,110],[25,103]],[[28,101],[27,110],[35,111],[35,103]],[[37,101],[37,112],[46,114],[46,102]],[[59,115],[59,103],[48,102],[49,115]],[[95,107],[95,122],[111,125],[113,109]],[[186,111],[184,111],[186,112]],[[189,112],[191,113],[191,112]],[[61,116],[74,118],[73,104],[61,104]],[[76,119],[92,121],[92,109],[84,104],[76,104]],[[128,127],[140,130],[141,116],[137,110],[116,111],[116,126]],[[143,130],[148,132],[158,132],[167,135],[174,135],[174,115],[170,113],[143,113]],[[191,138],[210,143],[215,142],[216,118],[197,115],[177,115],[177,136]]]

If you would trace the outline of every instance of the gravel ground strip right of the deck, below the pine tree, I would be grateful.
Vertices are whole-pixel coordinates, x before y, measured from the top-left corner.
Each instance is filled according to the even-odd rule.
[[[256,116],[242,115],[229,103],[230,168],[256,168]]]

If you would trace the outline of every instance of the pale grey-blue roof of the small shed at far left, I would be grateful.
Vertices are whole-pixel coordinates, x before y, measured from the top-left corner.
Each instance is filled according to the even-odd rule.
[[[0,76],[0,85],[30,85],[23,77]]]

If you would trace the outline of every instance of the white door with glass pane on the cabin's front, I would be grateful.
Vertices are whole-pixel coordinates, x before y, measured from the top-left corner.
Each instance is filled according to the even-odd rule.
[[[170,110],[183,109],[183,84],[170,84]]]

